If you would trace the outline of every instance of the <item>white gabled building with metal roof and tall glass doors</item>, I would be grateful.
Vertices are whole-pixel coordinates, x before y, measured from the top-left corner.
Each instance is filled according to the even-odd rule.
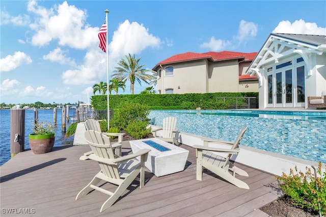
[[[246,74],[259,78],[259,108],[308,108],[326,90],[326,36],[271,33]]]

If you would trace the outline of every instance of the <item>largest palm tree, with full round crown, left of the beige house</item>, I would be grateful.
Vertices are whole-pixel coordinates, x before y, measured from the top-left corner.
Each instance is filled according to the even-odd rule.
[[[134,82],[137,80],[140,85],[142,85],[141,80],[143,80],[146,84],[154,78],[154,75],[147,74],[146,72],[152,72],[152,70],[148,70],[143,68],[144,65],[139,65],[139,59],[135,59],[134,55],[131,56],[130,53],[125,56],[127,60],[121,59],[118,63],[120,67],[115,67],[112,77],[118,80],[122,80],[126,82],[130,80],[130,92],[133,94]]]

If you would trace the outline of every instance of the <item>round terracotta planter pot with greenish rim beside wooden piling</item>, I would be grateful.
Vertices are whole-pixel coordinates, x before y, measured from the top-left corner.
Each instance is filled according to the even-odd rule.
[[[55,133],[46,135],[30,134],[30,147],[34,154],[50,152],[55,144]]]

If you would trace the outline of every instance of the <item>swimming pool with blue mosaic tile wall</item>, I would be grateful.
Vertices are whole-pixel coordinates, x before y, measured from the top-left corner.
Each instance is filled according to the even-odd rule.
[[[179,131],[234,141],[248,125],[241,145],[326,164],[326,112],[249,110],[151,111],[150,124],[177,118]]]

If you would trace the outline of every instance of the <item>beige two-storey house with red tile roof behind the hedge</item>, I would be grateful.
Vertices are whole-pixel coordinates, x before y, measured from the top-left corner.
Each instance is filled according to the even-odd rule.
[[[245,74],[257,52],[185,52],[156,64],[158,94],[258,92],[258,77]]]

